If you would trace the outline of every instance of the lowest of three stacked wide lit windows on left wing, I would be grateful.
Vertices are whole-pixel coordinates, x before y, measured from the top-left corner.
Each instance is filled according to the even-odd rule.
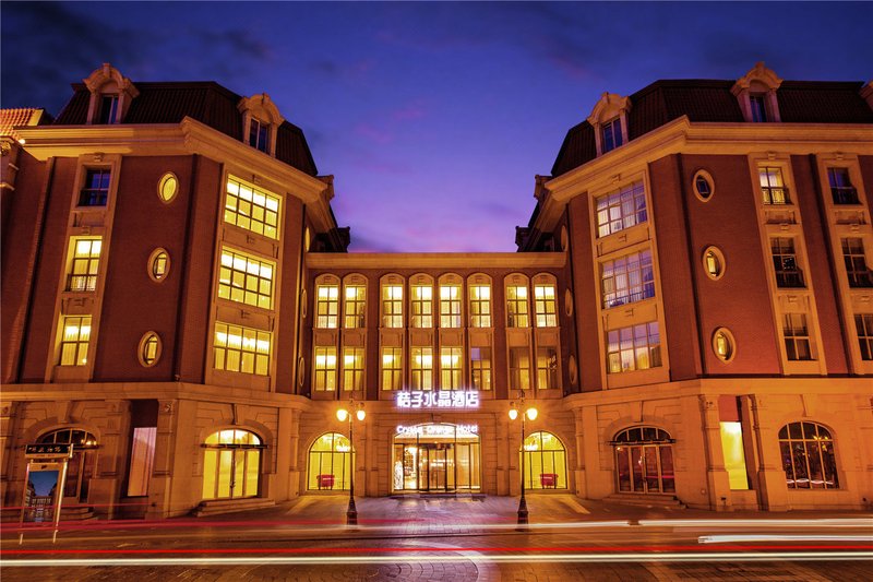
[[[270,332],[215,323],[215,369],[230,372],[270,375]]]

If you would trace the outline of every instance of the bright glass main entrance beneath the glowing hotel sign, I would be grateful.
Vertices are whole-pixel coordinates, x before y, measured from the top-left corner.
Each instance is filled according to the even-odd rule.
[[[392,458],[393,491],[481,490],[477,425],[422,424],[397,427]]]

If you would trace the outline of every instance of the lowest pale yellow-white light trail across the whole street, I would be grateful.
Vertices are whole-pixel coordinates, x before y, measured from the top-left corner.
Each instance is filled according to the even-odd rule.
[[[399,562],[463,562],[463,555],[431,556],[416,550],[406,556],[258,556],[258,557],[200,557],[200,558],[67,558],[1,560],[3,567],[16,568],[71,568],[95,566],[337,566],[387,565]],[[858,561],[873,560],[873,551],[707,551],[707,553],[620,553],[620,554],[511,554],[483,555],[477,560],[501,563],[543,562],[723,562],[723,561]]]

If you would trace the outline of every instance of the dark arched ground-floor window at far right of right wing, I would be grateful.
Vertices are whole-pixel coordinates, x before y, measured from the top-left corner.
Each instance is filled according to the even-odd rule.
[[[838,489],[837,458],[830,431],[815,423],[789,423],[779,430],[789,489]]]

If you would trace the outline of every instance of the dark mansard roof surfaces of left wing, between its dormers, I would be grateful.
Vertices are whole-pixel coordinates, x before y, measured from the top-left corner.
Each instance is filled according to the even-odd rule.
[[[84,83],[73,83],[74,94],[55,120],[56,126],[87,123],[89,92]],[[242,140],[242,112],[237,108],[242,96],[214,82],[136,83],[140,94],[132,99],[122,124],[179,123],[195,119],[235,140]],[[310,176],[318,175],[315,162],[303,131],[285,120],[276,136],[276,159]]]

